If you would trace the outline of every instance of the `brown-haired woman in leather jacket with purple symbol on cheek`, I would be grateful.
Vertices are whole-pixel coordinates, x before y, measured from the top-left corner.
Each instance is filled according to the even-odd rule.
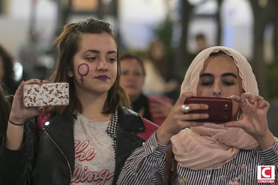
[[[0,150],[4,183],[116,184],[125,159],[158,127],[128,109],[118,40],[109,23],[68,24],[56,43],[50,81],[69,83],[70,104],[26,108],[23,85],[48,81],[20,84]]]

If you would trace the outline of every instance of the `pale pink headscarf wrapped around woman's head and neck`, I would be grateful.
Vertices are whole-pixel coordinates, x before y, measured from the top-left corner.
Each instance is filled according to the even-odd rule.
[[[245,92],[259,94],[257,81],[250,64],[239,52],[228,47],[210,47],[200,52],[189,66],[181,85],[183,92],[196,95],[204,61],[213,52],[224,51],[234,58]],[[223,124],[205,123],[184,129],[171,138],[175,159],[181,167],[193,170],[217,169],[236,157],[240,149],[254,150],[257,141],[241,128],[226,128]]]

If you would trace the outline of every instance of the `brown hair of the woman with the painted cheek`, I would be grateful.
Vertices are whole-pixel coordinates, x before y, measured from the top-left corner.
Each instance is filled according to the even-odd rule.
[[[115,83],[109,89],[107,99],[104,103],[102,113],[114,113],[119,107],[131,108],[130,99],[127,92],[120,86],[120,60],[119,42],[112,25],[98,19],[88,19],[79,23],[71,23],[64,26],[61,35],[56,39],[57,61],[50,77],[51,82],[67,82],[70,86],[70,104],[66,107],[47,107],[46,113],[72,113],[74,109],[82,110],[80,101],[74,96],[75,87],[73,77],[68,76],[68,72],[73,72],[73,58],[78,51],[81,36],[83,34],[107,33],[115,40],[117,45],[117,76]]]

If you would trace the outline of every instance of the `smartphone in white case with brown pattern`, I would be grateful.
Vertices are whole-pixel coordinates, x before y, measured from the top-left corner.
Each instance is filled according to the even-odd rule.
[[[23,88],[23,104],[26,107],[69,105],[69,84],[27,84]]]

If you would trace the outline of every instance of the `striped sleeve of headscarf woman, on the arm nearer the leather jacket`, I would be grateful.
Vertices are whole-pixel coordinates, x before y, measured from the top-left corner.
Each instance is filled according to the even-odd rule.
[[[126,160],[117,184],[153,184],[164,183],[165,152],[170,147],[156,142],[155,133],[135,150]]]

